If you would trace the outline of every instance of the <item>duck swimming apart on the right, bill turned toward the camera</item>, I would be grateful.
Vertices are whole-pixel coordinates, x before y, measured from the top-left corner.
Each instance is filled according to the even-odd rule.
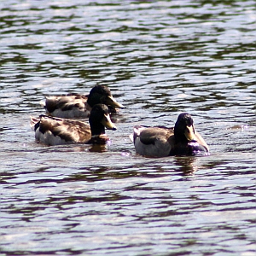
[[[189,113],[180,113],[174,128],[136,125],[130,139],[137,154],[147,157],[209,154],[209,147],[195,131],[194,120]]]

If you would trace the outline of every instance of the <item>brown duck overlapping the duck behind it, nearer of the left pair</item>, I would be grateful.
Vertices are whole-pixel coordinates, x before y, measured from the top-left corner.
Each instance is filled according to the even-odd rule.
[[[38,142],[49,146],[70,143],[105,144],[109,138],[105,127],[115,131],[104,104],[96,104],[90,112],[89,124],[82,120],[61,119],[42,114],[39,118],[31,117],[31,127]]]

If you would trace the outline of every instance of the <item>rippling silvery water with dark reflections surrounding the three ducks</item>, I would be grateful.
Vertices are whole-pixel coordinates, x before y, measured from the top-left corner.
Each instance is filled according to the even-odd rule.
[[[0,255],[255,255],[255,2],[0,3]],[[111,143],[47,147],[44,96],[105,84]],[[143,158],[189,112],[207,157]]]

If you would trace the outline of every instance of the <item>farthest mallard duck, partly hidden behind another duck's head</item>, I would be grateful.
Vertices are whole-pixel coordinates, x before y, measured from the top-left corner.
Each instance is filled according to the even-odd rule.
[[[49,115],[68,119],[89,117],[91,108],[98,103],[107,105],[111,113],[116,113],[116,108],[124,108],[104,85],[96,85],[89,95],[47,96],[43,105]]]

